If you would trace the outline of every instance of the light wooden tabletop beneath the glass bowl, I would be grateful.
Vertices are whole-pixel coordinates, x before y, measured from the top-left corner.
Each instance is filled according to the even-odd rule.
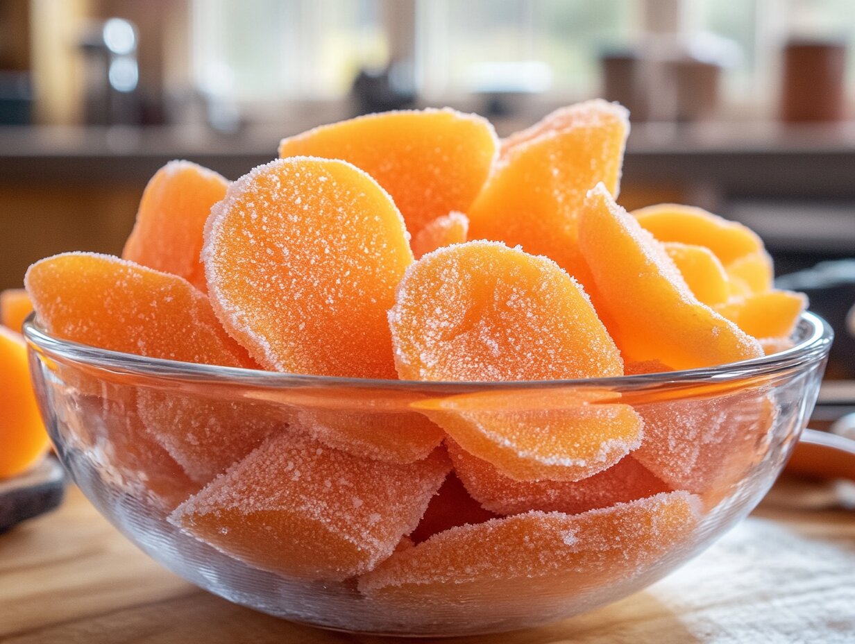
[[[699,558],[616,604],[540,629],[459,641],[855,642],[855,512],[793,507],[822,505],[824,493],[801,484],[778,489],[787,507],[767,500]],[[139,552],[72,487],[58,511],[0,535],[0,641],[398,640],[287,623],[199,590]]]

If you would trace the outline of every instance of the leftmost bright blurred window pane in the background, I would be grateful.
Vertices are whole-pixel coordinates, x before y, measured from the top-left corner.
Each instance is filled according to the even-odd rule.
[[[386,63],[378,0],[192,0],[198,89],[238,102],[336,98]]]

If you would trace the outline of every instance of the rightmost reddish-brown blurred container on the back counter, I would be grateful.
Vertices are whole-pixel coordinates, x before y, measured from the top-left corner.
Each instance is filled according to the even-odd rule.
[[[846,44],[792,39],[784,46],[781,119],[787,123],[844,117]]]

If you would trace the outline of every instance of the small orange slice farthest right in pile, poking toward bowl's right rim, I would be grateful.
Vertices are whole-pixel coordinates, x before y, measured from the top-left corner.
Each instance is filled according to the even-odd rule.
[[[730,299],[718,304],[716,311],[755,338],[786,338],[793,333],[805,308],[804,293],[765,291]]]

